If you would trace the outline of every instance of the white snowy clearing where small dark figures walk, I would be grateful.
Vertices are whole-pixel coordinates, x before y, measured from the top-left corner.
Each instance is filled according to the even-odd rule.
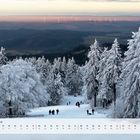
[[[81,104],[80,107],[77,107],[76,102],[82,101],[84,103],[84,98],[82,96],[74,97],[74,96],[66,96],[62,105],[59,106],[48,106],[48,107],[40,107],[36,109],[30,110],[27,112],[29,116],[42,116],[46,118],[105,118],[107,117],[107,113],[104,110],[95,109],[94,115],[87,115],[87,109],[91,112],[91,108],[89,104]],[[71,102],[70,105],[67,105],[68,102]],[[49,110],[57,110],[59,109],[58,115],[49,115]]]

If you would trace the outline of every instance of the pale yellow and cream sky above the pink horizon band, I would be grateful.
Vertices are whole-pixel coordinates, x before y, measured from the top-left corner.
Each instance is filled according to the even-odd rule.
[[[0,16],[140,16],[140,0],[0,0]]]

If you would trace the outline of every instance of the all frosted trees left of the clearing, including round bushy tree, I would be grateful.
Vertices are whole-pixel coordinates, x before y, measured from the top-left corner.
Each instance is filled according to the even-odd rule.
[[[0,116],[20,116],[34,107],[58,105],[65,95],[81,94],[75,60],[22,58],[8,61],[0,51]]]

